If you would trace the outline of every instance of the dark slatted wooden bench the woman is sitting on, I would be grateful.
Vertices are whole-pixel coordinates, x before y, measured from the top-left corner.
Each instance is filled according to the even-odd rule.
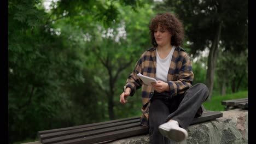
[[[211,121],[222,117],[219,111],[203,111],[202,116],[194,118],[192,124]],[[148,127],[140,125],[140,117],[130,117],[113,121],[78,125],[60,129],[38,131],[41,143],[102,143],[131,137],[135,135],[148,134]]]

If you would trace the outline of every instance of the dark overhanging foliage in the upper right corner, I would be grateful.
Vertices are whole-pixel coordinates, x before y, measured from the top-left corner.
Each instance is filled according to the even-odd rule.
[[[169,9],[174,11],[182,20],[185,34],[191,45],[191,54],[196,55],[197,50],[204,50],[209,41],[216,37],[217,27],[222,23],[220,40],[225,43],[226,49],[231,45],[241,45],[234,49],[243,51],[247,49],[248,34],[248,1],[173,1],[168,0],[156,9]],[[236,31],[234,31],[236,29]],[[243,46],[242,46],[243,45]]]

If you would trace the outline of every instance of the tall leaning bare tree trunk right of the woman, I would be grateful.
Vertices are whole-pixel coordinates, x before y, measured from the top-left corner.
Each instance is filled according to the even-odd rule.
[[[207,62],[207,73],[206,73],[206,86],[209,89],[209,97],[208,100],[211,100],[212,98],[212,90],[213,90],[213,84],[214,84],[214,71],[218,56],[218,44],[220,39],[220,33],[222,30],[222,22],[219,23],[216,31],[216,35],[214,37],[212,46],[210,47],[210,52],[208,56],[208,62]]]

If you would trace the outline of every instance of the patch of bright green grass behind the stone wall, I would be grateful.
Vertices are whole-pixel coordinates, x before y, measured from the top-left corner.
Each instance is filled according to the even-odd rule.
[[[231,99],[241,99],[241,98],[248,98],[248,91],[240,91],[237,93],[226,94],[226,95],[213,95],[212,99],[206,100],[203,103],[206,110],[211,111],[224,111],[225,105],[222,105],[223,100],[231,100]]]

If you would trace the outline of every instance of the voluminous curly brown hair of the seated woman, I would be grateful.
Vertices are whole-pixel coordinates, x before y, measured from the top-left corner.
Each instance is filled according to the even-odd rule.
[[[158,14],[149,23],[149,31],[151,43],[153,46],[158,46],[155,41],[154,31],[160,26],[162,29],[167,29],[172,34],[171,45],[179,46],[183,43],[184,29],[178,18],[171,13]]]

